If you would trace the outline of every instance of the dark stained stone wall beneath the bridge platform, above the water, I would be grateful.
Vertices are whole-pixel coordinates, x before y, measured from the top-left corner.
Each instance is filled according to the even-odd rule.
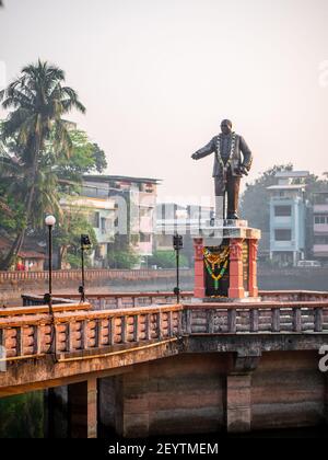
[[[99,387],[104,433],[145,437],[327,423],[327,377],[318,370],[316,353],[265,353],[248,373],[232,372],[232,358],[180,355],[104,381]]]

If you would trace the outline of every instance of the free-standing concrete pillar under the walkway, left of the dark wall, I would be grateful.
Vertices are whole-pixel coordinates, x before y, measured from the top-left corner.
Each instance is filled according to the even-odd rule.
[[[97,437],[97,379],[68,387],[69,434],[71,438]]]

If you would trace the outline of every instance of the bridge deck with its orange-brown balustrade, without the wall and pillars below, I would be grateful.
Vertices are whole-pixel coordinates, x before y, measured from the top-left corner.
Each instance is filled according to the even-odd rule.
[[[167,299],[167,294],[163,298]],[[280,297],[268,292],[267,300],[253,303],[91,307],[73,301],[56,304],[54,319],[47,306],[0,311],[0,395],[20,392],[26,386],[50,387],[55,380],[61,384],[63,379],[83,380],[97,371],[110,373],[184,353],[190,344],[195,350],[197,337],[200,352],[214,347],[216,352],[241,353],[243,348],[247,354],[258,346],[260,354],[271,346],[318,349],[328,334],[328,299],[323,292],[280,292]],[[210,348],[207,343],[212,344]]]

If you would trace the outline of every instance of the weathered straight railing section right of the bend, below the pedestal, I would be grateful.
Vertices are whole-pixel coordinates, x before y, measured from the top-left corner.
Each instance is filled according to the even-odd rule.
[[[184,304],[187,334],[328,333],[328,301]]]

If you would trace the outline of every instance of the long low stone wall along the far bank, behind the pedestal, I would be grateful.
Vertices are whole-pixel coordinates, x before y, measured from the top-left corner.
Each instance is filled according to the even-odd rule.
[[[68,271],[69,272],[69,271]],[[54,277],[54,291],[78,292],[79,271],[62,272]],[[48,289],[47,274],[5,278],[0,273],[0,303],[13,303],[23,292],[42,294]],[[27,274],[25,274],[27,275]],[[175,287],[174,269],[166,271],[87,271],[86,290],[102,291],[172,291]],[[261,290],[328,290],[328,267],[270,269],[258,267],[258,287]],[[194,289],[194,272],[181,271],[180,287]]]

